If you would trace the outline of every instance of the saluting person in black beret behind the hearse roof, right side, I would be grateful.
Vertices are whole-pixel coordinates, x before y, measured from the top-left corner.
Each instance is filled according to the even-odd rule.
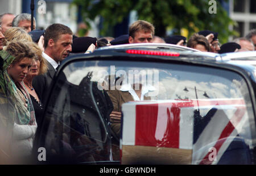
[[[207,38],[210,44],[210,52],[218,53],[220,51],[220,42],[218,42],[218,33],[209,30],[199,31],[199,35],[203,35]]]

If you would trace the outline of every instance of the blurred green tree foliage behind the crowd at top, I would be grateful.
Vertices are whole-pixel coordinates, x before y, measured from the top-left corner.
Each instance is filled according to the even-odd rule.
[[[74,0],[81,7],[86,23],[100,15],[104,19],[101,35],[121,23],[135,10],[138,19],[147,20],[155,26],[155,35],[165,37],[167,29],[180,34],[180,29],[188,31],[188,37],[204,29],[218,32],[221,42],[227,42],[230,35],[237,35],[229,30],[234,24],[228,12],[217,1],[217,13],[209,13],[210,0]]]

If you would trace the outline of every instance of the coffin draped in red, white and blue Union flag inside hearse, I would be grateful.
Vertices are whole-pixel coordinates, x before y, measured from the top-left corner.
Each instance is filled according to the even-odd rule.
[[[242,99],[122,106],[122,164],[217,164],[248,117]]]

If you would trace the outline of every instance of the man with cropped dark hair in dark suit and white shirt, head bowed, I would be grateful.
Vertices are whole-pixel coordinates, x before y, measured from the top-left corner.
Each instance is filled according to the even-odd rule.
[[[55,23],[49,25],[46,29],[44,34],[43,57],[48,64],[47,72],[43,75],[36,76],[32,82],[43,104],[46,102],[49,86],[51,85],[56,68],[72,51],[72,35],[71,29],[63,24]]]

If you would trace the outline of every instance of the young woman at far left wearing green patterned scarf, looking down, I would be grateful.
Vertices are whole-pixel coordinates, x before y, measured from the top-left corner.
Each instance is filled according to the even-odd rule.
[[[35,53],[26,42],[11,42],[0,56],[0,162],[16,162],[30,156],[37,128],[23,83]]]

